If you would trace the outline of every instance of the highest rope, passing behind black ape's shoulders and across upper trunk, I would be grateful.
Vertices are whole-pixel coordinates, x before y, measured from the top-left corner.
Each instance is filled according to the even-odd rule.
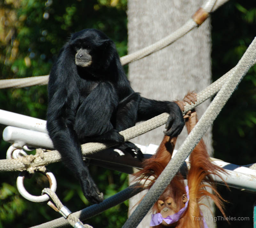
[[[208,0],[202,6],[202,9],[208,15],[208,13],[210,13],[211,11],[215,11],[217,8],[219,8],[222,4],[224,4],[227,1],[228,0],[217,0],[217,1]],[[133,61],[141,59],[145,56],[153,54],[156,51],[169,46],[170,44],[178,40],[180,37],[187,34],[190,30],[198,27],[199,25],[200,24],[197,24],[193,19],[189,19],[182,27],[174,31],[172,34],[164,37],[163,39],[161,39],[156,43],[149,45],[148,47],[142,48],[132,54],[121,57],[120,61],[122,65],[126,65]],[[0,80],[0,89],[10,88],[10,87],[21,88],[21,87],[34,86],[34,85],[46,85],[48,84],[48,80],[49,80],[49,75],[34,76],[34,77],[20,78],[20,79],[4,79],[4,80]]]

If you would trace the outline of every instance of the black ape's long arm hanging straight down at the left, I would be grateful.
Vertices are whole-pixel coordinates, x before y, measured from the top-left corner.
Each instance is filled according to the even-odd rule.
[[[79,179],[85,197],[90,202],[98,203],[103,200],[103,194],[100,194],[88,167],[83,162],[81,145],[73,127],[79,94],[74,82],[70,83],[72,78],[68,77],[67,73],[70,73],[70,70],[65,71],[65,67],[68,66],[59,62],[51,71],[48,84],[47,130],[54,148],[61,154],[62,161]]]

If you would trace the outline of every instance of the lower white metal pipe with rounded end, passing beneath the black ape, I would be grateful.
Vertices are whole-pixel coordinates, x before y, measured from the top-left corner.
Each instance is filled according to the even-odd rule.
[[[52,141],[49,138],[47,133],[43,132],[36,132],[31,131],[27,129],[17,128],[8,126],[4,129],[3,132],[3,139],[4,141],[8,141],[11,143],[14,142],[23,142],[22,144],[36,147],[36,148],[49,148],[53,149]],[[137,145],[140,147],[140,145]],[[141,150],[144,153],[145,157],[148,157],[155,153],[157,146],[150,144],[148,147],[141,146]],[[105,161],[110,166],[113,166],[114,169],[115,163],[122,165],[128,165],[133,167],[140,167],[140,164],[137,159],[134,159],[131,157],[129,160],[127,156],[116,156],[116,154],[107,154],[107,156],[104,156],[106,154],[106,151],[102,151],[103,153],[98,152],[96,154],[92,154],[90,157],[92,159]],[[115,153],[115,151],[112,151]],[[117,152],[116,152],[117,153]],[[150,155],[149,155],[150,154]],[[95,160],[95,161],[96,161]],[[217,163],[220,167],[224,168],[227,171],[227,174],[219,173],[220,176],[226,181],[228,186],[235,187],[243,190],[253,191],[256,192],[256,171],[252,170],[250,168],[239,166],[231,163],[227,163],[218,159],[213,159],[212,162]],[[112,164],[112,165],[111,165]],[[188,163],[189,166],[189,163]],[[213,178],[221,183],[221,179],[217,176],[213,176]]]

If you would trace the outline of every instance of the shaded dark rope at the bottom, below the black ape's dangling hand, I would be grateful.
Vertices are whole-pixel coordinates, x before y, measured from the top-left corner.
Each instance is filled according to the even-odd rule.
[[[90,207],[87,207],[83,210],[74,212],[74,216],[78,217],[81,221],[84,221],[85,219],[88,219],[92,216],[95,216],[97,214],[100,214],[101,212],[114,207],[125,200],[130,199],[132,196],[138,194],[143,190],[142,187],[139,184],[133,184],[132,186],[127,187],[126,189],[120,191],[119,193],[109,197],[108,199],[104,200],[103,202],[99,204],[93,204]],[[57,219],[54,219],[50,222],[36,225],[30,228],[54,228],[54,227],[65,227],[68,225],[68,221],[66,221],[65,218],[60,217]]]

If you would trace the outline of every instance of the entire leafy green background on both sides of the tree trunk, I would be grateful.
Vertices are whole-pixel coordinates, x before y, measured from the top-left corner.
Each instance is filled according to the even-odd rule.
[[[49,74],[61,46],[69,34],[87,27],[97,28],[116,43],[120,56],[127,53],[126,0],[36,1],[0,0],[0,79]],[[212,80],[236,65],[256,31],[256,7],[250,0],[233,0],[212,16]],[[125,68],[126,71],[128,68]],[[0,90],[0,108],[46,119],[47,87],[33,86]],[[237,87],[213,125],[215,157],[234,164],[255,162],[256,149],[256,67]],[[4,129],[0,125],[0,131]],[[0,159],[9,143],[0,141]],[[54,173],[57,194],[71,210],[89,205],[73,175],[60,163],[48,168]],[[91,173],[105,197],[124,189],[127,176],[98,166]],[[2,172],[0,185],[0,228],[30,227],[59,217],[45,203],[23,199],[16,189],[18,172]],[[40,194],[47,181],[35,175],[25,183],[32,194]],[[252,227],[254,194],[219,186],[230,217],[249,221],[218,221],[218,227]],[[122,227],[128,202],[86,220],[93,227]],[[217,216],[220,212],[217,211]]]

